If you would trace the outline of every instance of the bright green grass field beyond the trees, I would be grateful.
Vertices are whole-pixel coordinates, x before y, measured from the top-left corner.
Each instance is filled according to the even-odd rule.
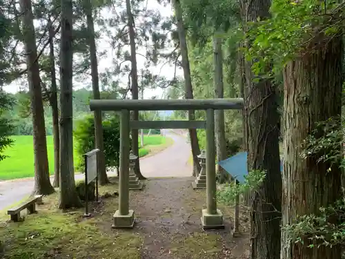
[[[34,176],[34,152],[32,136],[12,136],[13,146],[7,148],[5,160],[0,162],[0,180],[12,180],[19,178],[29,178]],[[150,135],[144,138],[144,147],[139,149],[139,157],[144,157],[150,153],[151,146],[166,144],[166,138],[161,135]],[[140,142],[139,142],[140,146]],[[52,136],[47,136],[49,171],[54,171],[54,147]],[[78,164],[78,156],[75,152],[75,165]]]

